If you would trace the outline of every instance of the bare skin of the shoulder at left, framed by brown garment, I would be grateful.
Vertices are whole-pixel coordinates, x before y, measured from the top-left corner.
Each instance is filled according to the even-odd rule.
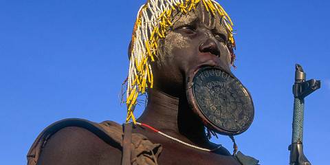
[[[52,135],[43,146],[37,164],[120,164],[121,151],[91,131],[68,126]]]

